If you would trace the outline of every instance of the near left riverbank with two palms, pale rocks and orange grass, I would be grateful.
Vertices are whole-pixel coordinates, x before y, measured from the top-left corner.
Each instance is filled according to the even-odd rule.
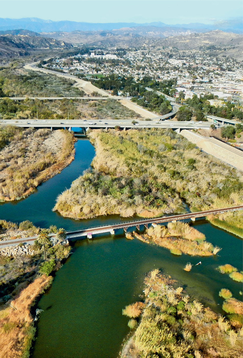
[[[18,230],[18,225],[0,221],[0,232],[6,234],[13,229]],[[44,236],[44,241],[36,240],[34,245],[20,243],[0,250],[0,358],[29,357],[35,321],[41,314],[41,310],[33,306],[43,290],[51,285],[51,272],[62,266],[71,250],[62,228],[52,225],[49,229],[39,229],[26,220],[20,223],[19,229],[29,232],[30,236],[39,232],[39,239]],[[49,237],[49,233],[55,237]]]

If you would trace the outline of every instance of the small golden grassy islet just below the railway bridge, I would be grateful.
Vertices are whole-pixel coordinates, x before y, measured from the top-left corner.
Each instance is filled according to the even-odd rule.
[[[169,222],[168,226],[154,225],[140,235],[133,233],[135,237],[143,242],[155,243],[168,248],[174,255],[182,253],[192,256],[212,256],[221,249],[213,247],[210,242],[205,241],[205,235],[188,223],[180,221]],[[126,233],[127,238],[133,238],[131,233]],[[190,271],[187,269],[187,271]]]

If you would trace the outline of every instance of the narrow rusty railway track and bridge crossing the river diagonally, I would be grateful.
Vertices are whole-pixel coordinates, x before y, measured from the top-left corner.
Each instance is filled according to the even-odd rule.
[[[161,223],[167,223],[170,221],[178,221],[178,220],[185,220],[185,219],[191,219],[192,221],[195,221],[196,218],[205,217],[208,215],[215,215],[215,214],[222,214],[225,212],[233,212],[233,211],[239,211],[243,209],[243,205],[233,206],[229,208],[223,208],[223,209],[212,209],[212,210],[206,210],[206,211],[199,211],[195,213],[186,213],[186,214],[179,214],[179,215],[172,215],[172,216],[163,216],[160,218],[153,218],[153,219],[142,219],[142,220],[135,220],[135,221],[127,221],[120,224],[112,224],[112,225],[104,225],[99,227],[92,227],[87,229],[80,229],[77,231],[68,231],[66,239],[72,240],[78,237],[88,237],[92,238],[93,235],[101,234],[101,233],[111,233],[112,235],[115,233],[115,230],[123,229],[125,232],[127,232],[127,229],[130,227],[136,227],[138,230],[140,230],[140,226],[145,226],[148,228],[148,224],[161,224]],[[55,236],[55,234],[50,234],[50,237]],[[0,247],[5,246],[15,246],[19,243],[30,243],[33,244],[34,241],[38,238],[38,236],[33,236],[25,239],[19,239],[19,240],[6,240],[0,242]]]

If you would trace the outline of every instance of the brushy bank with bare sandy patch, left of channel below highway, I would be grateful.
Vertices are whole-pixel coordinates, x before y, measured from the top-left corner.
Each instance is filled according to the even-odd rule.
[[[0,201],[28,196],[74,159],[74,135],[67,130],[0,128]]]

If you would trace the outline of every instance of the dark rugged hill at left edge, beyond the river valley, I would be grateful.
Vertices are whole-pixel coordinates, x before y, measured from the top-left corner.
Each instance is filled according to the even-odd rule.
[[[70,49],[73,45],[53,38],[45,38],[29,30],[0,31],[0,56],[25,56],[37,48]]]

